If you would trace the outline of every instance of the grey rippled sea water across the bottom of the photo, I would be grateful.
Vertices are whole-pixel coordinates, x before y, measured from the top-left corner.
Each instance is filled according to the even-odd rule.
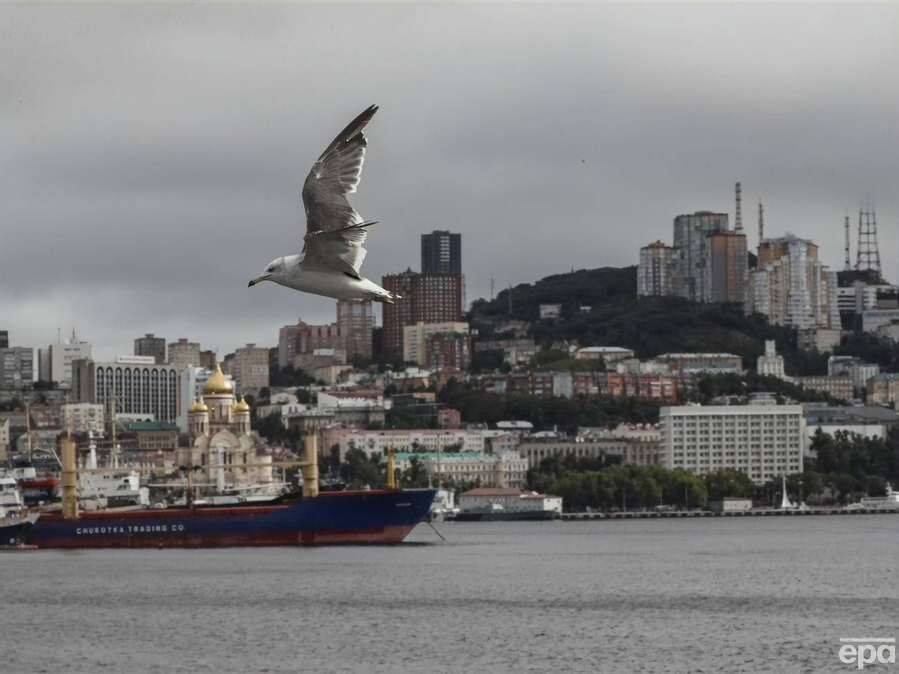
[[[852,671],[899,624],[895,516],[436,526],[0,554],[0,671]]]

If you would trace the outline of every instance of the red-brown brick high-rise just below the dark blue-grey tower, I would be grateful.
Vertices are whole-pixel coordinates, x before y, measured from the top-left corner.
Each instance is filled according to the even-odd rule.
[[[462,317],[462,279],[452,274],[418,274],[406,270],[381,279],[401,298],[384,305],[382,347],[387,359],[403,358],[403,328],[417,323],[455,323]]]

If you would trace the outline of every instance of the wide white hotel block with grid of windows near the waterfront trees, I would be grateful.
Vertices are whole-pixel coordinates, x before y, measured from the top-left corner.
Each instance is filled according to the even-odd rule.
[[[763,484],[803,469],[802,405],[684,405],[660,412],[660,463],[706,474],[737,468]]]

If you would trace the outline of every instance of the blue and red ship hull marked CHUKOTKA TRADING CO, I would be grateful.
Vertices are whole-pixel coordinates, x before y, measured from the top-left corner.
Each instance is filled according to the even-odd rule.
[[[224,547],[401,542],[431,508],[433,490],[323,492],[272,505],[41,515],[20,537],[44,547]]]

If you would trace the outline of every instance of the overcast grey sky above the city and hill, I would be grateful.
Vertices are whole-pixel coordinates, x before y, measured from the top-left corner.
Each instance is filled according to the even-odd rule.
[[[462,234],[467,299],[635,264],[672,218],[821,245],[877,208],[899,277],[899,5],[4,5],[0,329],[101,358],[277,343],[334,302],[271,283],[311,163],[375,102],[363,274]]]

